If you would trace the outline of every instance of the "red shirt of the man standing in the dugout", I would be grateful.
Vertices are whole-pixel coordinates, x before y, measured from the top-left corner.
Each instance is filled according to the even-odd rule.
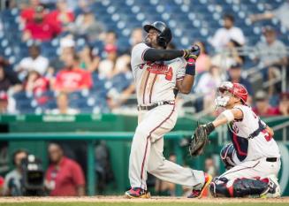
[[[59,165],[49,165],[46,180],[55,184],[55,188],[50,192],[51,196],[75,196],[78,195],[77,187],[85,185],[80,164],[65,156]]]

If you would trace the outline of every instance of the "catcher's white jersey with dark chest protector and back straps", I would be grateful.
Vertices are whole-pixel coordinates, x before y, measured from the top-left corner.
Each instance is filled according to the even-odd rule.
[[[247,105],[237,105],[234,108],[243,112],[243,119],[233,121],[229,126],[232,143],[240,161],[246,162],[262,157],[279,157],[280,153],[276,141],[264,129],[266,124],[255,115],[255,112]],[[255,135],[252,135],[254,133]],[[250,135],[252,136],[250,137]]]

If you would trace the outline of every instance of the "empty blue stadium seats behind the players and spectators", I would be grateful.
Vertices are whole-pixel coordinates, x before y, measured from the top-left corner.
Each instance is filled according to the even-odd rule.
[[[103,0],[91,1],[87,5],[89,11],[95,15],[95,19],[104,27],[105,31],[114,31],[117,34],[118,55],[124,54],[131,50],[130,35],[133,29],[141,27],[143,24],[155,20],[163,20],[173,31],[173,44],[179,49],[188,48],[189,45],[196,41],[205,42],[209,56],[216,54],[216,51],[209,44],[209,39],[214,35],[217,28],[223,26],[222,18],[224,14],[233,14],[235,26],[240,27],[246,36],[244,48],[252,47],[262,39],[262,27],[271,26],[278,34],[278,40],[288,45],[289,32],[285,27],[281,27],[278,19],[270,19],[255,22],[249,19],[251,14],[263,11],[277,9],[283,0],[272,1],[238,1],[238,0]],[[44,5],[47,12],[56,9],[54,4]],[[77,7],[74,10],[75,19],[85,12]],[[30,45],[37,43],[42,49],[42,56],[49,58],[49,61],[61,56],[63,52],[60,42],[61,39],[70,34],[69,30],[63,29],[62,33],[55,36],[51,41],[39,42],[29,39],[23,41],[22,33],[25,25],[20,18],[20,8],[6,8],[1,11],[0,19],[2,28],[0,29],[0,55],[10,62],[10,68],[15,68],[23,57],[27,57],[27,50]],[[71,23],[73,24],[73,22]],[[66,25],[65,25],[66,26]],[[99,35],[99,39],[89,42],[86,35],[74,35],[72,38],[75,42],[73,50],[80,51],[83,46],[89,46],[92,49],[91,57],[106,57],[104,34]],[[249,69],[255,63],[250,57],[245,55],[243,68]],[[85,62],[84,65],[86,65]],[[87,66],[87,65],[86,65]],[[85,69],[86,66],[81,67]],[[97,66],[96,66],[97,67]],[[121,93],[132,83],[132,77],[125,73],[117,73],[111,79],[105,79],[96,72],[92,73],[94,85],[92,88],[84,91],[72,92],[69,95],[72,108],[81,112],[109,112],[110,107],[106,103],[107,94],[112,91]],[[45,78],[53,80],[52,74],[45,75]],[[52,85],[53,83],[50,82]],[[6,91],[7,92],[7,91]],[[7,111],[11,113],[45,113],[56,107],[56,92],[50,87],[49,91],[42,94],[27,94],[26,91],[20,91],[13,94],[8,92],[10,99],[15,100],[14,109]],[[275,104],[276,95],[272,95]]]

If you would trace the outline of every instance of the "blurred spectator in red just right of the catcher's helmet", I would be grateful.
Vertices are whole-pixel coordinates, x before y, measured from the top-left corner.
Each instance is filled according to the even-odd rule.
[[[263,90],[259,90],[255,94],[255,108],[253,108],[253,111],[259,116],[275,116],[280,114],[278,108],[270,105],[269,96]]]

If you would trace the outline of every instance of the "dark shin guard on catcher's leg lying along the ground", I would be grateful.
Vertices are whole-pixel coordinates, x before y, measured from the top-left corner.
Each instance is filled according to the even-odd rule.
[[[244,197],[247,195],[262,195],[268,190],[268,183],[260,179],[220,178],[213,180],[209,191],[215,197]]]

